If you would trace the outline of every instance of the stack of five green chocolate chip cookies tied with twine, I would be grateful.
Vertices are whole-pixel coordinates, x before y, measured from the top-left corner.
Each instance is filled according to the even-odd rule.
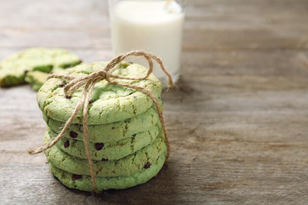
[[[64,74],[82,77],[106,66],[106,62],[86,63],[67,69]],[[113,74],[143,76],[148,69],[138,64],[121,63]],[[161,83],[153,74],[145,80],[114,81],[143,87],[160,103]],[[53,140],[72,115],[82,88],[64,93],[68,82],[52,78],[39,89],[37,102],[48,127],[44,141]],[[167,147],[153,100],[143,92],[116,86],[103,80],[92,93],[88,112],[91,156],[98,190],[124,189],[145,183],[162,168]],[[50,170],[65,186],[92,191],[90,168],[83,142],[82,111],[61,140],[45,150]]]

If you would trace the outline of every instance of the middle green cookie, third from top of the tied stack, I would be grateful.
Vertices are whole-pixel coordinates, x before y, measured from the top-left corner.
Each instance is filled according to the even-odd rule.
[[[90,143],[91,156],[94,160],[108,159],[118,160],[135,151],[151,144],[157,137],[160,124],[151,127],[148,131],[137,133],[134,137],[126,138],[112,143]],[[49,130],[49,136],[52,140],[57,134]],[[64,152],[80,157],[87,158],[85,153],[85,145],[83,141],[62,137],[57,146]]]

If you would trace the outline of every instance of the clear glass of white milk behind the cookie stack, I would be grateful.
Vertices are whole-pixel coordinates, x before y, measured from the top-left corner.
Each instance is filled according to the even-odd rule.
[[[132,50],[159,56],[174,81],[180,75],[182,32],[186,0],[109,0],[112,50],[119,55]],[[148,63],[142,58],[127,59]],[[158,64],[154,75],[167,85],[167,77]]]

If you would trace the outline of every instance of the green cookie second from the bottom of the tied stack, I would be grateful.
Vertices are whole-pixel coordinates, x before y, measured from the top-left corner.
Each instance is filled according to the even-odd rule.
[[[45,141],[49,136],[45,133]],[[145,146],[122,159],[113,161],[93,161],[96,176],[130,176],[139,172],[148,162],[153,164],[160,155],[165,156],[167,147],[162,133],[151,145]],[[66,172],[90,175],[88,161],[63,152],[58,146],[45,150],[49,163]]]

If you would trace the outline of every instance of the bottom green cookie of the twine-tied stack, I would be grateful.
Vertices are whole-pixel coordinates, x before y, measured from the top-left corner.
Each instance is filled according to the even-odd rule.
[[[137,172],[133,175],[116,177],[96,176],[95,182],[97,190],[102,191],[106,189],[126,189],[138,184],[143,184],[158,174],[164,162],[165,155],[161,154],[149,168],[142,168],[140,172]],[[49,168],[52,174],[56,176],[65,186],[82,191],[92,191],[92,182],[90,176],[71,174],[53,166],[52,164],[49,164]]]

